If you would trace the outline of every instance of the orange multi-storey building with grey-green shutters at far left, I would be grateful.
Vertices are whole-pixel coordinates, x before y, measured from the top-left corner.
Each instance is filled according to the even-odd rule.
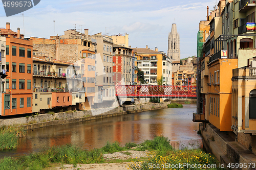
[[[24,38],[18,28],[17,33],[10,29],[0,29],[0,34],[6,37],[6,90],[2,95],[4,107],[2,115],[32,113],[32,51],[33,42]]]

